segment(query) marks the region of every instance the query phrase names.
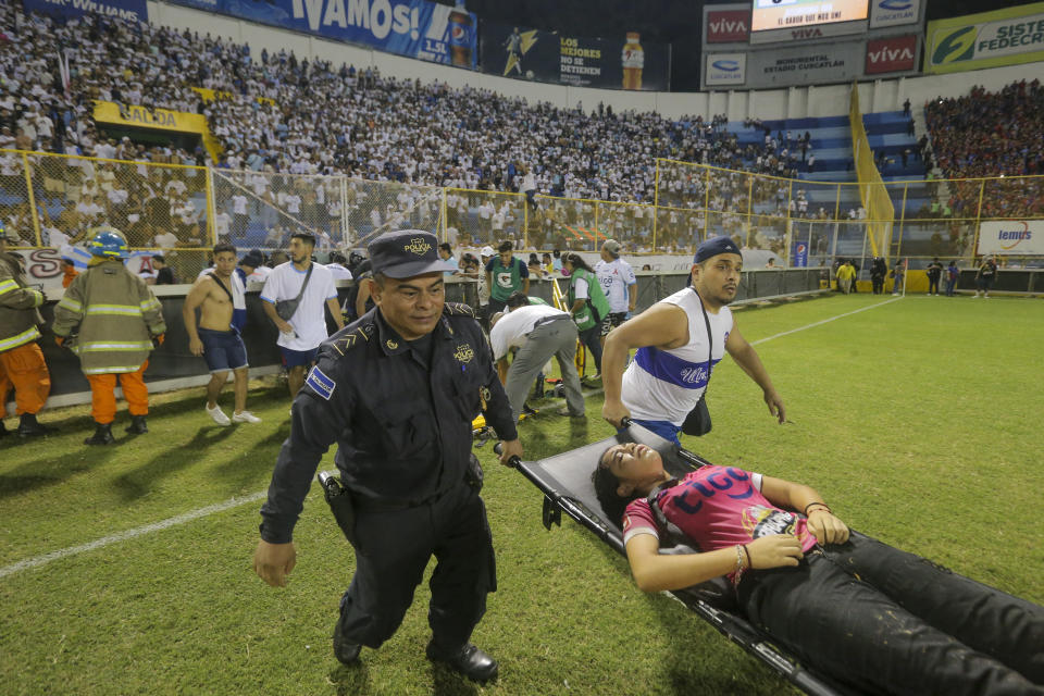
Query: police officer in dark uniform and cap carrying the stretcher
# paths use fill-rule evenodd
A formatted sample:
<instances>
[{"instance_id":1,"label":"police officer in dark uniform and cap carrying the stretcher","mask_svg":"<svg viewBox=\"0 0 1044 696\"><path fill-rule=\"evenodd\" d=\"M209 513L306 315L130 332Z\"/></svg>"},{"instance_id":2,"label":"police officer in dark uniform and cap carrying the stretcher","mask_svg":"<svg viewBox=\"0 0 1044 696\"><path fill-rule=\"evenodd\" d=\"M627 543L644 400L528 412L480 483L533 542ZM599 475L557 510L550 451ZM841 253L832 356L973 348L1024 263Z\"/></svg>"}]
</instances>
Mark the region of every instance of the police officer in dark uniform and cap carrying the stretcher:
<instances>
[{"instance_id":1,"label":"police officer in dark uniform and cap carrying the stretcher","mask_svg":"<svg viewBox=\"0 0 1044 696\"><path fill-rule=\"evenodd\" d=\"M356 663L361 646L377 648L395 633L434 554L427 657L486 681L497 663L469 639L496 589L496 569L472 467L472 420L485 411L505 440L502 462L522 447L473 310L445 301L437 247L415 229L371 243L376 307L322 344L294 400L253 566L270 585L286 584L294 525L336 440L355 512L356 574L340 601L334 655Z\"/></svg>"}]
</instances>

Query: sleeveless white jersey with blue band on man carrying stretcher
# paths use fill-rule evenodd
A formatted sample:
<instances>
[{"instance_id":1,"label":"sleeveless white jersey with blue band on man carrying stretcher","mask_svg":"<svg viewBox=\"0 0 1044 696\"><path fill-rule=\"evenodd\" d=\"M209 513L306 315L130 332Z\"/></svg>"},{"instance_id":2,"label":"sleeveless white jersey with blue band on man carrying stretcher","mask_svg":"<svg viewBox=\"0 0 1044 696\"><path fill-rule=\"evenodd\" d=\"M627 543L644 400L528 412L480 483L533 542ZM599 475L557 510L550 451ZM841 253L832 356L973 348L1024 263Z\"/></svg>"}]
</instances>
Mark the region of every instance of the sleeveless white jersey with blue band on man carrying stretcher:
<instances>
[{"instance_id":1,"label":"sleeveless white jersey with blue band on man carrying stretcher","mask_svg":"<svg viewBox=\"0 0 1044 696\"><path fill-rule=\"evenodd\" d=\"M643 421L670 421L681 425L707 389L707 326L699 297L685 288L660 302L674 304L688 318L688 343L681 348L660 350L638 348L623 373L621 398L631 417ZM732 310L722 307L717 314L707 312L713 336L711 369L725 355L725 340L732 331Z\"/></svg>"}]
</instances>

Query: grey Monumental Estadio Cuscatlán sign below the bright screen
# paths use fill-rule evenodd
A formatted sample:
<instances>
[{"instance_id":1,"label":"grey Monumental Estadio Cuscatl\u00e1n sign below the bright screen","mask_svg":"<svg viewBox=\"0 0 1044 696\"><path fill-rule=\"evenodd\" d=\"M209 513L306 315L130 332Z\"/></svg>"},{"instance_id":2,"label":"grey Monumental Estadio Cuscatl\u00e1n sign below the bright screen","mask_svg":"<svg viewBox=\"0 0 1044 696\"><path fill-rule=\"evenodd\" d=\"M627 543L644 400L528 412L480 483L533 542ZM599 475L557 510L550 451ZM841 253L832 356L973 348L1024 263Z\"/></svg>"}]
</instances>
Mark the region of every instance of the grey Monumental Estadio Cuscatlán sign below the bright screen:
<instances>
[{"instance_id":1,"label":"grey Monumental Estadio Cuscatl\u00e1n sign below the bright screen","mask_svg":"<svg viewBox=\"0 0 1044 696\"><path fill-rule=\"evenodd\" d=\"M850 82L862 73L862 41L748 51L746 86L762 89Z\"/></svg>"}]
</instances>

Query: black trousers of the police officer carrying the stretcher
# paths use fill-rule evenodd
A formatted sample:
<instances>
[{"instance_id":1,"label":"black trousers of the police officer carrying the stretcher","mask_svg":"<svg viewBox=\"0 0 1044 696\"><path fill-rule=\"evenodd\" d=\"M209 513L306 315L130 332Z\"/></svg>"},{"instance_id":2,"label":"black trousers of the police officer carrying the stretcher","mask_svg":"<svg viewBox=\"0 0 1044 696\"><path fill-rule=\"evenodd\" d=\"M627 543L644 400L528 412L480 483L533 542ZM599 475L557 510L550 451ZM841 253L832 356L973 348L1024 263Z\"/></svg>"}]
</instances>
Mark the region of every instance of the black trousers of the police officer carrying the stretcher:
<instances>
[{"instance_id":1,"label":"black trousers of the police officer carrying the stretcher","mask_svg":"<svg viewBox=\"0 0 1044 696\"><path fill-rule=\"evenodd\" d=\"M338 630L377 648L399 627L434 555L427 622L433 639L460 647L496 589L496 560L486 508L461 482L434 502L399 510L356 509L356 574L340 600Z\"/></svg>"}]
</instances>

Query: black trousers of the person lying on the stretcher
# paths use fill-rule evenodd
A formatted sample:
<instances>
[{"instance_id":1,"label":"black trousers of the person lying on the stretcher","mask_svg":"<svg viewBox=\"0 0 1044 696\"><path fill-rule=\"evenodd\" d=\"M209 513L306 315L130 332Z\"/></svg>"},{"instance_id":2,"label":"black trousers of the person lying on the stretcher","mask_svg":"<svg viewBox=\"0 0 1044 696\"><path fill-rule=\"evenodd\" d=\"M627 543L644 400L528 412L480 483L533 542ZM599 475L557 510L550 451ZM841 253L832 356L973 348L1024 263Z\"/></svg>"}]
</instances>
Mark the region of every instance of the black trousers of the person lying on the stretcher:
<instances>
[{"instance_id":1,"label":"black trousers of the person lying on the stretcher","mask_svg":"<svg viewBox=\"0 0 1044 696\"><path fill-rule=\"evenodd\" d=\"M828 549L741 583L801 660L868 693L1044 694L1044 608L861 535Z\"/></svg>"}]
</instances>

